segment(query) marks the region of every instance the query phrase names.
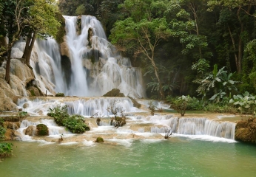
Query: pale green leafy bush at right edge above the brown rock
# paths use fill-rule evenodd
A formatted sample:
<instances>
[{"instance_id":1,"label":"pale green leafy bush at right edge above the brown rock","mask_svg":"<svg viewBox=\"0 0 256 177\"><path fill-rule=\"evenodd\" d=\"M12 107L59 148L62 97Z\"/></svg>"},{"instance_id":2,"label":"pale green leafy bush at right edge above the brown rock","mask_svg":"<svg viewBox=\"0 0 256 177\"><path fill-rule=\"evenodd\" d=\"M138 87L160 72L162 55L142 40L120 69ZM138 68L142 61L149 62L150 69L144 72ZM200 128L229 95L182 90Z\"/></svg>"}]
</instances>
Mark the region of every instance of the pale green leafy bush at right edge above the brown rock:
<instances>
[{"instance_id":1,"label":"pale green leafy bush at right edge above the brown rock","mask_svg":"<svg viewBox=\"0 0 256 177\"><path fill-rule=\"evenodd\" d=\"M255 96L246 91L244 94L233 95L229 103L235 105L241 114L255 114L256 100Z\"/></svg>"}]
</instances>

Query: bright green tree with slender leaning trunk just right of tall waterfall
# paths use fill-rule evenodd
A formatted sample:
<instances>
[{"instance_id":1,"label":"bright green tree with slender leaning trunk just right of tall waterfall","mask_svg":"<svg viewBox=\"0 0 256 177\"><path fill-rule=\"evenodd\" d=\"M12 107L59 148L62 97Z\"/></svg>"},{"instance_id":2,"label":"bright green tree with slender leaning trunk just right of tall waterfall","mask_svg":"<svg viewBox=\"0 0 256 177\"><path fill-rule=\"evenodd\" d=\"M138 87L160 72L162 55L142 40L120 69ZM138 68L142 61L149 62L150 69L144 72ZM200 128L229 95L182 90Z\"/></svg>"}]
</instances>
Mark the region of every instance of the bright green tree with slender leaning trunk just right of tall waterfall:
<instances>
[{"instance_id":1,"label":"bright green tree with slender leaning trunk just right of tall waterfall","mask_svg":"<svg viewBox=\"0 0 256 177\"><path fill-rule=\"evenodd\" d=\"M127 0L121 5L127 18L115 22L110 35L113 44L122 51L132 50L135 55L143 54L149 60L156 80L159 93L164 98L161 78L155 63L155 50L161 41L166 40L171 32L164 13L166 1L155 0Z\"/></svg>"}]
</instances>

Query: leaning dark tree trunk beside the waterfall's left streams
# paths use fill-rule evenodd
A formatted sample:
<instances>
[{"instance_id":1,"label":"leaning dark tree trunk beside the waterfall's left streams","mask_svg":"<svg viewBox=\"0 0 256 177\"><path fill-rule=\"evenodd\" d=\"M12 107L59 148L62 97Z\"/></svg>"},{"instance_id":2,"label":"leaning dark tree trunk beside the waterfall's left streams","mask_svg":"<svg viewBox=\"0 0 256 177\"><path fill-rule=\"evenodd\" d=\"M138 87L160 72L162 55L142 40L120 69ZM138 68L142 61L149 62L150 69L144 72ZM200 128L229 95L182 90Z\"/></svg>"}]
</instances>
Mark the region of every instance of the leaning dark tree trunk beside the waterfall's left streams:
<instances>
[{"instance_id":1,"label":"leaning dark tree trunk beside the waterfall's left streams","mask_svg":"<svg viewBox=\"0 0 256 177\"><path fill-rule=\"evenodd\" d=\"M33 36L32 36L32 35L33 35ZM27 66L28 66L30 69L33 69L33 68L30 66L30 57L31 57L31 53L32 53L32 49L33 49L33 46L34 46L34 44L35 44L35 41L36 41L36 35L35 35L35 33L30 32L30 33L27 35L26 46L25 46L24 53L23 53L23 56L22 56L22 58L25 58L26 64L27 64Z\"/></svg>"}]
</instances>

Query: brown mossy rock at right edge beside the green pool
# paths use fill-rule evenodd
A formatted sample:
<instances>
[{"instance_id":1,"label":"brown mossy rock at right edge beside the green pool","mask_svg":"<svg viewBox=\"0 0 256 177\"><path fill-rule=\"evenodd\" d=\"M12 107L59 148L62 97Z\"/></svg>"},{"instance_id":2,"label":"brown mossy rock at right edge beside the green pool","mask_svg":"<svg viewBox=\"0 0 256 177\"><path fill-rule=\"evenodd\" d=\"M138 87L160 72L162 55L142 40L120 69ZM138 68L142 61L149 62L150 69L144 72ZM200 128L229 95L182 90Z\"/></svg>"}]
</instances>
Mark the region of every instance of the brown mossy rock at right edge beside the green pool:
<instances>
[{"instance_id":1,"label":"brown mossy rock at right edge beside the green pool","mask_svg":"<svg viewBox=\"0 0 256 177\"><path fill-rule=\"evenodd\" d=\"M250 117L248 120L238 122L235 127L235 139L256 143L256 119Z\"/></svg>"}]
</instances>

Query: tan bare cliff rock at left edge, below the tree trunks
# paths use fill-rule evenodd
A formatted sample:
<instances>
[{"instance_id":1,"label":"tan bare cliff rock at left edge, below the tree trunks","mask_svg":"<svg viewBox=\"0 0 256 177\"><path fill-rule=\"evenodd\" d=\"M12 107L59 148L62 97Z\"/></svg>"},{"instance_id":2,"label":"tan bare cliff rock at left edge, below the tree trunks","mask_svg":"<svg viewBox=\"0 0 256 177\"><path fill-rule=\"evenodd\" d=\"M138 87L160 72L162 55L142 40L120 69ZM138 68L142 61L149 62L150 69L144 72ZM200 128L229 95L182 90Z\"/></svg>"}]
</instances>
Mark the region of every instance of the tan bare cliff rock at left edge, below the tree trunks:
<instances>
[{"instance_id":1,"label":"tan bare cliff rock at left edge, below the tree trunks","mask_svg":"<svg viewBox=\"0 0 256 177\"><path fill-rule=\"evenodd\" d=\"M13 111L16 109L17 105L15 103L18 97L31 95L31 91L27 90L27 87L35 80L35 76L33 71L21 60L12 59L10 64L10 84L8 84L4 80L5 66L6 62L0 67L0 111Z\"/></svg>"}]
</instances>

